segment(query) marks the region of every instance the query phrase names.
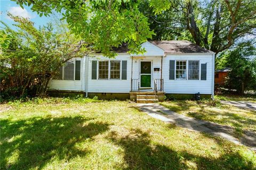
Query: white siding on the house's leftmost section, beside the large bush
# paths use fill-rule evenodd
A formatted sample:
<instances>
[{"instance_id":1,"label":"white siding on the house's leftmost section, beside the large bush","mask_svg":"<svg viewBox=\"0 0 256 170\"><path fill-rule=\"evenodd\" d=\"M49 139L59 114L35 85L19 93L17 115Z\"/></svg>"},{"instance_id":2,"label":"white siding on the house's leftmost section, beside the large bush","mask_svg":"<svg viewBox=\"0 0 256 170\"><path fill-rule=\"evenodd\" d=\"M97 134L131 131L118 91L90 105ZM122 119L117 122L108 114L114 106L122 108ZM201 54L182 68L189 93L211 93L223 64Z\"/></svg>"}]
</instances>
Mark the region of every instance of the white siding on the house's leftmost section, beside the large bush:
<instances>
[{"instance_id":1,"label":"white siding on the house's leftmost section, beside the large bush","mask_svg":"<svg viewBox=\"0 0 256 170\"><path fill-rule=\"evenodd\" d=\"M80 80L55 80L52 79L49 84L49 90L60 91L83 91L82 79L84 75L84 60L81 58L74 58L73 60L81 60Z\"/></svg>"}]
</instances>

